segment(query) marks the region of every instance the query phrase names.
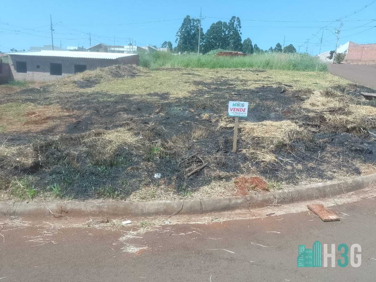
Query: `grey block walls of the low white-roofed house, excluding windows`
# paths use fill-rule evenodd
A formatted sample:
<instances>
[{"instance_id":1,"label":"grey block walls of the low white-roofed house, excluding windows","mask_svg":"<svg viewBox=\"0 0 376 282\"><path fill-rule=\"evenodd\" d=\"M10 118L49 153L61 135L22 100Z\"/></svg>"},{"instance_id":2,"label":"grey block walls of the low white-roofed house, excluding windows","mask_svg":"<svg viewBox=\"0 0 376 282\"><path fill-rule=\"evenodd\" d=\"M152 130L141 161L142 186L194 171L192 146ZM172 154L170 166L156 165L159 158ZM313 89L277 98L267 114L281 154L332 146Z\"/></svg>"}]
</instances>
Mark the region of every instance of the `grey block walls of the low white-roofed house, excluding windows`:
<instances>
[{"instance_id":1,"label":"grey block walls of the low white-roofed house, excluding windows","mask_svg":"<svg viewBox=\"0 0 376 282\"><path fill-rule=\"evenodd\" d=\"M119 59L91 59L91 58L62 58L46 56L11 55L10 68L15 80L46 81L58 79L62 76L74 74L74 65L86 65L87 70L98 67L108 67L116 64L138 64L138 55L127 56ZM26 73L17 73L16 62L26 62ZM50 63L62 65L62 75L50 75ZM37 68L39 66L39 68Z\"/></svg>"}]
</instances>

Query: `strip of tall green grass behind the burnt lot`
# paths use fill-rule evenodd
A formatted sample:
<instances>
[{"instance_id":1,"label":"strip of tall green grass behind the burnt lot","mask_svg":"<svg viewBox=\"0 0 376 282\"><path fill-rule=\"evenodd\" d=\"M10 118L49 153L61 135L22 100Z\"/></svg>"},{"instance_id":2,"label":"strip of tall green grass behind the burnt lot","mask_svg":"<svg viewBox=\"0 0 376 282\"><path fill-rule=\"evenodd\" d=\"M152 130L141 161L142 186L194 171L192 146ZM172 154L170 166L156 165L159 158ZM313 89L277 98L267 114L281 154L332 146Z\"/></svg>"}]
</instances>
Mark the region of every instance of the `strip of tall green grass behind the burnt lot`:
<instances>
[{"instance_id":1,"label":"strip of tall green grass behind the burnt lot","mask_svg":"<svg viewBox=\"0 0 376 282\"><path fill-rule=\"evenodd\" d=\"M139 63L148 68L258 68L263 70L326 71L327 65L307 54L263 53L245 57L214 57L213 55L167 52L139 54Z\"/></svg>"}]
</instances>

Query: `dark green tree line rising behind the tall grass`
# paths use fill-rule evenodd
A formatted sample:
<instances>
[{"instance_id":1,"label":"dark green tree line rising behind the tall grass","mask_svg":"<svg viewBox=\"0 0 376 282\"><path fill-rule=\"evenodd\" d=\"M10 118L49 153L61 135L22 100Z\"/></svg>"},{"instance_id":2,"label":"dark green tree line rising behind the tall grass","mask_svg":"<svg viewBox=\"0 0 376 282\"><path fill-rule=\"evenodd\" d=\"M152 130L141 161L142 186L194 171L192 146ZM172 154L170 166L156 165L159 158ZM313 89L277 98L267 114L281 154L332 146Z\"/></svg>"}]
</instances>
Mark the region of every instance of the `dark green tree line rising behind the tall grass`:
<instances>
[{"instance_id":1,"label":"dark green tree line rising behind the tall grass","mask_svg":"<svg viewBox=\"0 0 376 282\"><path fill-rule=\"evenodd\" d=\"M192 52L197 53L199 48L200 33L200 53L208 53L212 50L230 50L248 54L264 53L264 52L284 52L296 53L293 44L287 45L282 49L282 45L278 42L276 46L270 47L268 50L262 50L257 44L252 44L252 40L248 37L242 42L241 39L241 21L239 17L231 17L226 21L217 21L212 23L206 33L200 29L200 20L191 18L187 15L179 30L176 32L177 45L173 48L171 41L164 41L162 48L168 48L171 52Z\"/></svg>"}]
</instances>

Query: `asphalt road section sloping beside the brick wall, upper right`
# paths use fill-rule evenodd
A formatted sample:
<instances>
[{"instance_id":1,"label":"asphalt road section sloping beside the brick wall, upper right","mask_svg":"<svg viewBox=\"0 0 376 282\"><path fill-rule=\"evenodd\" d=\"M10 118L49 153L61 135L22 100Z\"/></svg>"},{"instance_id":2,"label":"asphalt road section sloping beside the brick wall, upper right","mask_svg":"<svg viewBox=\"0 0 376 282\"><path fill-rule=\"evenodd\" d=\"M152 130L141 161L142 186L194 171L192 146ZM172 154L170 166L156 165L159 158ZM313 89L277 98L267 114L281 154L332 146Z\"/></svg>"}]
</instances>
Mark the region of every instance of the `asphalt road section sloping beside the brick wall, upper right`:
<instances>
[{"instance_id":1,"label":"asphalt road section sloping beside the brick wall, upper right","mask_svg":"<svg viewBox=\"0 0 376 282\"><path fill-rule=\"evenodd\" d=\"M329 71L361 85L376 88L376 65L330 64Z\"/></svg>"}]
</instances>

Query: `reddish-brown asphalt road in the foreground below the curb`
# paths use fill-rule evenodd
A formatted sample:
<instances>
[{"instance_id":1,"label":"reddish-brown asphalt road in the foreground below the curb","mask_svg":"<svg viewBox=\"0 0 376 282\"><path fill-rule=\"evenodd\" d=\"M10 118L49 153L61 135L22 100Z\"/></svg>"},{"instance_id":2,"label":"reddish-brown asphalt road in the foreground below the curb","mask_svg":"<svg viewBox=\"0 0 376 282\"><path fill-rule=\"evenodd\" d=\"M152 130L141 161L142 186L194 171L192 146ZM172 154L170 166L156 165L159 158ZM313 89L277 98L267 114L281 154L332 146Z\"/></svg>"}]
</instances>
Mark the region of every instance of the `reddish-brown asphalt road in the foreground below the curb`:
<instances>
[{"instance_id":1,"label":"reddish-brown asphalt road in the foreground below the curb","mask_svg":"<svg viewBox=\"0 0 376 282\"><path fill-rule=\"evenodd\" d=\"M0 236L0 281L374 282L376 199L332 209L344 213L339 214L341 221L325 223L305 211L213 224L164 225L127 241L149 247L138 253L122 252L126 245L119 241L121 231L51 226L52 232L35 226L49 226L38 219L30 226L8 224L0 233L5 241ZM35 240L40 235L42 241ZM336 246L360 244L361 266L297 268L298 245L309 247L315 240Z\"/></svg>"}]
</instances>

